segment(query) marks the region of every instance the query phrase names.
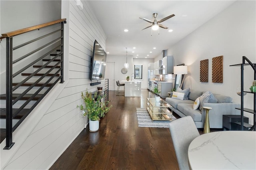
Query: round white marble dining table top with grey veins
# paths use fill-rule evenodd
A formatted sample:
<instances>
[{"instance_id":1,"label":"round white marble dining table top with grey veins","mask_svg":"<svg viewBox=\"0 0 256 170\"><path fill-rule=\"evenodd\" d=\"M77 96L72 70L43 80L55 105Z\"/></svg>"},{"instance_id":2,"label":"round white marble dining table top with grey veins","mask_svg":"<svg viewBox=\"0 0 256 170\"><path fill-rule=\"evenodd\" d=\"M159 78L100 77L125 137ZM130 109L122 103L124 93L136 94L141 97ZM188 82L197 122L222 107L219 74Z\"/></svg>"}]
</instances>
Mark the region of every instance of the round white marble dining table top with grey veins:
<instances>
[{"instance_id":1,"label":"round white marble dining table top with grey veins","mask_svg":"<svg viewBox=\"0 0 256 170\"><path fill-rule=\"evenodd\" d=\"M192 170L256 170L256 132L202 134L190 143L188 161Z\"/></svg>"}]
</instances>

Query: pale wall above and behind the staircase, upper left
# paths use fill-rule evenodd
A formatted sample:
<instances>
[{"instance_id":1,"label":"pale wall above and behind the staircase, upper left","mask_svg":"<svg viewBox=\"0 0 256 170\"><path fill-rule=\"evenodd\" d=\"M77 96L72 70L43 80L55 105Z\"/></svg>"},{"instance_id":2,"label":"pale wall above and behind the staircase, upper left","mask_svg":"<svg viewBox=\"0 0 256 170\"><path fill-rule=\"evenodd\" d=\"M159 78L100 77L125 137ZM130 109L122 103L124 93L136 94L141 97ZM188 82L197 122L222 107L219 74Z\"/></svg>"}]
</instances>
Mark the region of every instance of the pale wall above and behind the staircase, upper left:
<instances>
[{"instance_id":1,"label":"pale wall above and behind the staircase, upper left","mask_svg":"<svg viewBox=\"0 0 256 170\"><path fill-rule=\"evenodd\" d=\"M28 28L31 26L43 24L46 22L58 20L61 18L61 0L49 1L49 0L37 0L37 1L24 1L24 0L1 0L0 9L0 22L1 22L1 34L19 30L22 28ZM33 8L31 8L33 7ZM45 9L45 10L40 10ZM33 32L28 32L26 34L20 34L13 38L13 47L20 45L23 42L32 40L33 38L38 38L39 36L45 35L46 32L53 32L56 30L58 24L50 26L47 28L41 28L40 30L35 30ZM55 34L54 39L57 38ZM45 41L50 42L53 37L49 36L37 42L30 43L20 49L13 51L13 60L21 57L29 52L31 49L36 49L41 46ZM17 44L19 42L19 44ZM36 52L33 55L42 55L44 51ZM26 63L31 62L31 58L35 56L30 55L23 59L22 61L15 63L13 65L13 73L20 70ZM36 58L36 57L35 57ZM34 70L32 68L32 70ZM28 71L28 70L26 70ZM5 94L5 79L6 79L6 39L2 39L0 43L0 81L1 89L0 94ZM22 79L20 75L14 78L14 82L18 82ZM15 93L15 92L14 92Z\"/></svg>"}]
</instances>

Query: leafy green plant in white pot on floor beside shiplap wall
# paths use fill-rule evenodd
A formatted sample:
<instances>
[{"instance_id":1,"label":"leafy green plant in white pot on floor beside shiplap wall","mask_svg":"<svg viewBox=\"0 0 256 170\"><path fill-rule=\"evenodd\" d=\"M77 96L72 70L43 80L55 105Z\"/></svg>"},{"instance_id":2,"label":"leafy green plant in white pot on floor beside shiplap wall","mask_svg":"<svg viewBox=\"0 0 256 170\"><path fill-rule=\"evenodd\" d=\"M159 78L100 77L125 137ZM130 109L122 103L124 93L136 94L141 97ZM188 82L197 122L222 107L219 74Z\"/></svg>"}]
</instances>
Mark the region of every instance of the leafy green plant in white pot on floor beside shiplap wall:
<instances>
[{"instance_id":1,"label":"leafy green plant in white pot on floor beside shiplap wall","mask_svg":"<svg viewBox=\"0 0 256 170\"><path fill-rule=\"evenodd\" d=\"M86 91L86 94L84 95L82 92L81 96L86 107L83 105L77 107L84 111L83 116L88 115L90 132L96 132L100 127L100 118L104 117L105 114L108 113L112 105L108 107L109 101L102 103L102 97L97 95L97 93L93 95L92 92Z\"/></svg>"}]
</instances>

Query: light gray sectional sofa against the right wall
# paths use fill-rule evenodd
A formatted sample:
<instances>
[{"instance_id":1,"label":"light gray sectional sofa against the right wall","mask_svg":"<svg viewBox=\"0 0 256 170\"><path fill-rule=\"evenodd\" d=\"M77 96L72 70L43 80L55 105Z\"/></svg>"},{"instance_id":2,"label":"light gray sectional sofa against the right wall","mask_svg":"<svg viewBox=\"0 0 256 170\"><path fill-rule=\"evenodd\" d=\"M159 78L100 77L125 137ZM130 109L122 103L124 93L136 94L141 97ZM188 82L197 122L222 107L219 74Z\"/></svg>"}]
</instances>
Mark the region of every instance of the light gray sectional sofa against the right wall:
<instances>
[{"instance_id":1,"label":"light gray sectional sofa against the right wall","mask_svg":"<svg viewBox=\"0 0 256 170\"><path fill-rule=\"evenodd\" d=\"M166 102L172 105L170 109L180 117L191 116L197 128L204 127L206 110L193 110L194 101L203 94L202 91L190 89L188 100L166 98ZM210 128L222 128L222 115L240 115L240 111L235 109L241 107L240 104L232 103L232 98L221 94L214 94L217 103L203 103L202 106L212 107L209 111Z\"/></svg>"}]
</instances>

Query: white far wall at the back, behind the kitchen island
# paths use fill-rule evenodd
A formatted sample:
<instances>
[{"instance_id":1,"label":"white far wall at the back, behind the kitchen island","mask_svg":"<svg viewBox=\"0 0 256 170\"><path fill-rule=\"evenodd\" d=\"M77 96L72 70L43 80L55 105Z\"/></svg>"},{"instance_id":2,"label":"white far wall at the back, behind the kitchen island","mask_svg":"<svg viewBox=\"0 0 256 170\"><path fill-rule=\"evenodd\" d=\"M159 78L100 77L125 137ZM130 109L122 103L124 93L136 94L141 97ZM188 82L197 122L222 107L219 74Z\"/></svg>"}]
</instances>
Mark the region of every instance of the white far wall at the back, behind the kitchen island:
<instances>
[{"instance_id":1,"label":"white far wall at the back, behind the kitchen island","mask_svg":"<svg viewBox=\"0 0 256 170\"><path fill-rule=\"evenodd\" d=\"M125 52L125 49L124 49ZM127 76L130 76L131 80L131 75L134 76L132 73L134 73L134 65L135 64L142 64L142 69L143 69L143 75L142 75L142 84L141 88L142 89L147 89L148 87L148 63L154 62L154 59L142 59L142 58L133 58L132 55L127 55L127 62L129 63L129 68L126 74L121 73L121 69L124 68L124 63L126 62L126 55L120 56L120 55L107 55L107 61L115 61L116 62L116 80L126 80ZM110 76L114 75L106 75L106 78L110 78ZM117 89L117 86L115 86L115 90Z\"/></svg>"}]
</instances>

